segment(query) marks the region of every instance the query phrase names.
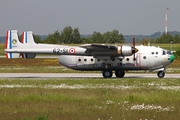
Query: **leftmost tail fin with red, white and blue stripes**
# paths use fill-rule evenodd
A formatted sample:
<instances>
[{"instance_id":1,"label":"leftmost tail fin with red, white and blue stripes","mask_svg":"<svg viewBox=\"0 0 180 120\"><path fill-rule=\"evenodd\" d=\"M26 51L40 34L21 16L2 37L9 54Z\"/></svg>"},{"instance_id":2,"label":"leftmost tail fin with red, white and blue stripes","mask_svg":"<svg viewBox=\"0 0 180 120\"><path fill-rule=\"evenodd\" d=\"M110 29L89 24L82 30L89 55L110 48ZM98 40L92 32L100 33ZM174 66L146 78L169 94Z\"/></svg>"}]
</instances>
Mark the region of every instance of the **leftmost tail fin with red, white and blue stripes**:
<instances>
[{"instance_id":1,"label":"leftmost tail fin with red, white and blue stripes","mask_svg":"<svg viewBox=\"0 0 180 120\"><path fill-rule=\"evenodd\" d=\"M22 45L19 41L17 30L9 30L6 32L6 49L17 49ZM6 58L19 58L19 53L6 53Z\"/></svg>"}]
</instances>

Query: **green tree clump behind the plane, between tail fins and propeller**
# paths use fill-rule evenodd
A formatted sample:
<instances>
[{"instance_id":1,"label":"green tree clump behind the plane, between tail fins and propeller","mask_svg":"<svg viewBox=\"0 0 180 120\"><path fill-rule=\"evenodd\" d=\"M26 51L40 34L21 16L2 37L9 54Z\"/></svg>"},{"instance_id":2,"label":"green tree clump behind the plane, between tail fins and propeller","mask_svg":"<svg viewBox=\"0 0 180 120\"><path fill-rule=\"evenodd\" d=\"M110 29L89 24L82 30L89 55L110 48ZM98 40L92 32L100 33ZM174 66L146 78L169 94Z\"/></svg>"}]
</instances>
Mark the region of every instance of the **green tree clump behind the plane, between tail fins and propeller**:
<instances>
[{"instance_id":1,"label":"green tree clump behind the plane, between tail fins and propeller","mask_svg":"<svg viewBox=\"0 0 180 120\"><path fill-rule=\"evenodd\" d=\"M48 44L85 44L85 43L124 43L124 36L118 30L108 31L104 34L100 32L93 32L92 35L81 37L78 28L70 26L65 27L61 32L56 30L54 33L49 34L44 40L40 36L34 35L36 43ZM21 38L21 37L20 37Z\"/></svg>"}]
</instances>

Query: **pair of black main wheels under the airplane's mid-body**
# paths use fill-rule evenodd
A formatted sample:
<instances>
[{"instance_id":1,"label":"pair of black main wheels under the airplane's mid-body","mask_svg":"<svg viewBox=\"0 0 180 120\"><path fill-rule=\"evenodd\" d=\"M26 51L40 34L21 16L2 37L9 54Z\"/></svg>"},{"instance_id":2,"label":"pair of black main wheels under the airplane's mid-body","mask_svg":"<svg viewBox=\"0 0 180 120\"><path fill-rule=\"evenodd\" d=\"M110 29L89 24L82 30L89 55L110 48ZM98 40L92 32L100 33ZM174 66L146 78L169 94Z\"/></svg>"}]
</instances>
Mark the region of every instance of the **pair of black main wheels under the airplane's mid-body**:
<instances>
[{"instance_id":1,"label":"pair of black main wheels under the airplane's mid-body","mask_svg":"<svg viewBox=\"0 0 180 120\"><path fill-rule=\"evenodd\" d=\"M104 71L102 71L102 75L104 78L111 78L113 75L113 72L112 72L112 70L104 70ZM118 78L122 78L122 77L124 77L125 72L124 72L124 70L116 70L115 75Z\"/></svg>"}]
</instances>

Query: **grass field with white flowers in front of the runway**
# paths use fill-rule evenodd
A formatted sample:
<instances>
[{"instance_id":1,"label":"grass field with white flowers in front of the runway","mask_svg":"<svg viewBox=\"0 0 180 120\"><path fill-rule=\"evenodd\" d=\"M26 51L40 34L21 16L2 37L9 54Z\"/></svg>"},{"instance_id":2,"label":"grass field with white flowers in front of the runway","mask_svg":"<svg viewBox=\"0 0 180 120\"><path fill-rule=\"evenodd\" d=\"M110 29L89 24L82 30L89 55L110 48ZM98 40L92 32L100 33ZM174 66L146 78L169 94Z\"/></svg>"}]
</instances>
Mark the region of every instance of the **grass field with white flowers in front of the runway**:
<instances>
[{"instance_id":1,"label":"grass field with white flowers in front of the runway","mask_svg":"<svg viewBox=\"0 0 180 120\"><path fill-rule=\"evenodd\" d=\"M0 89L0 119L180 117L180 79L2 79Z\"/></svg>"}]
</instances>

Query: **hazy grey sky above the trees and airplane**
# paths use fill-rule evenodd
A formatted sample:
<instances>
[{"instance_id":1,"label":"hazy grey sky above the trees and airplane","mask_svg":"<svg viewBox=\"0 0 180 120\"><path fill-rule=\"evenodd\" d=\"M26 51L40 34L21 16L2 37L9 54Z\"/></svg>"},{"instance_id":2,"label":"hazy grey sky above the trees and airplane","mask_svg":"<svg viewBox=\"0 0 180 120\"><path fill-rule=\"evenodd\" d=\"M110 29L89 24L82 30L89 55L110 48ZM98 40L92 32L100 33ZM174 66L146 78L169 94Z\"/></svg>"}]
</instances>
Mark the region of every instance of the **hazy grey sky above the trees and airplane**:
<instances>
[{"instance_id":1,"label":"hazy grey sky above the trees and airplane","mask_svg":"<svg viewBox=\"0 0 180 120\"><path fill-rule=\"evenodd\" d=\"M180 32L180 0L1 0L0 36L6 30L48 35L65 27L81 34L118 30L123 35Z\"/></svg>"}]
</instances>

